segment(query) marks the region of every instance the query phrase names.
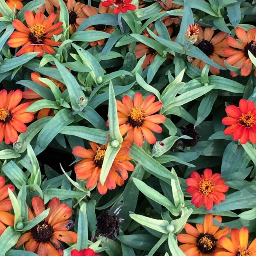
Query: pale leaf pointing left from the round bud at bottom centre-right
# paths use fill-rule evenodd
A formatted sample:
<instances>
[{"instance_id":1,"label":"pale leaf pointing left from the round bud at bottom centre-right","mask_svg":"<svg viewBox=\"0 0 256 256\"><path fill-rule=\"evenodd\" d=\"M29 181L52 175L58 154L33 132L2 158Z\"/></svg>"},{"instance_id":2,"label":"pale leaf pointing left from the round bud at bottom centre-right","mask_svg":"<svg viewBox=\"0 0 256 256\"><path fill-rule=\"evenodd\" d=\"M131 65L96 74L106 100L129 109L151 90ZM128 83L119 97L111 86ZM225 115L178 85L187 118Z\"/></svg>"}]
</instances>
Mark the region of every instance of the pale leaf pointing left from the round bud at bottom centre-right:
<instances>
[{"instance_id":1,"label":"pale leaf pointing left from the round bud at bottom centre-right","mask_svg":"<svg viewBox=\"0 0 256 256\"><path fill-rule=\"evenodd\" d=\"M168 234L167 226L169 222L167 220L155 220L153 218L148 218L139 214L130 214L132 220L135 220L139 224L154 229L158 232Z\"/></svg>"}]
</instances>

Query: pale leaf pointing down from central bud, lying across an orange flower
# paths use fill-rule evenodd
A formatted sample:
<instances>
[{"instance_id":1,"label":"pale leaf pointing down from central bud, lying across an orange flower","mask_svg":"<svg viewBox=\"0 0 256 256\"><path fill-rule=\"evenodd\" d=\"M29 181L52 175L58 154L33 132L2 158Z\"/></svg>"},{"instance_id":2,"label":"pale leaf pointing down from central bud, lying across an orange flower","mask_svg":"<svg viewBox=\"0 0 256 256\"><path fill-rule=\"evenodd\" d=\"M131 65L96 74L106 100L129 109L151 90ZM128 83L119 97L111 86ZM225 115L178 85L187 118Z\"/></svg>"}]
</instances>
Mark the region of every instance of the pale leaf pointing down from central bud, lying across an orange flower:
<instances>
[{"instance_id":1,"label":"pale leaf pointing down from central bud, lying across an orange flower","mask_svg":"<svg viewBox=\"0 0 256 256\"><path fill-rule=\"evenodd\" d=\"M104 185L106 178L108 177L110 168L112 167L112 164L120 148L121 148L121 144L119 144L117 147L111 146L110 143L108 144L108 147L105 152L103 164L101 167L100 182L102 185Z\"/></svg>"}]
</instances>

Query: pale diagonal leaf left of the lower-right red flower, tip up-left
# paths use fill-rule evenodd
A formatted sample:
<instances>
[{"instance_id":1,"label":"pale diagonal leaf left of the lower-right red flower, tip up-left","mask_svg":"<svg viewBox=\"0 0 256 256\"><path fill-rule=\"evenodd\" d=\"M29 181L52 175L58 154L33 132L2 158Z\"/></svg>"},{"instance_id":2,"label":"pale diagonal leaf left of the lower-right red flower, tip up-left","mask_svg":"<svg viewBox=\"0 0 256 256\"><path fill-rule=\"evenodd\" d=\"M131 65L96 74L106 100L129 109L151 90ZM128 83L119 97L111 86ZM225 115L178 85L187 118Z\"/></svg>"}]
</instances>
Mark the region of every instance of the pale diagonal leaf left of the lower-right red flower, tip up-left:
<instances>
[{"instance_id":1,"label":"pale diagonal leaf left of the lower-right red flower, tip up-left","mask_svg":"<svg viewBox=\"0 0 256 256\"><path fill-rule=\"evenodd\" d=\"M146 197L152 199L153 201L162 204L168 211L170 211L174 216L178 216L179 212L177 211L175 205L168 200L164 195L156 191L155 189L152 189L150 186L142 182L141 180L138 180L136 178L132 178L133 182Z\"/></svg>"}]
</instances>

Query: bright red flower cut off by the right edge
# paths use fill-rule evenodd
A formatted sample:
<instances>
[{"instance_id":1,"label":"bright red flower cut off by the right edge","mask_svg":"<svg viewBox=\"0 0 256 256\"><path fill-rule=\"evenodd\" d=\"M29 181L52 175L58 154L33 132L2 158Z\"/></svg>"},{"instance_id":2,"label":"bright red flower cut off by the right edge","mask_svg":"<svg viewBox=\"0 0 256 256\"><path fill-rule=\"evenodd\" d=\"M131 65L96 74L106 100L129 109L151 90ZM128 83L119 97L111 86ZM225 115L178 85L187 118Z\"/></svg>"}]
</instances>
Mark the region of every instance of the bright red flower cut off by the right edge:
<instances>
[{"instance_id":1,"label":"bright red flower cut off by the right edge","mask_svg":"<svg viewBox=\"0 0 256 256\"><path fill-rule=\"evenodd\" d=\"M234 105L226 107L229 117L222 119L222 124L230 125L224 130L225 135L233 134L233 139L240 139L241 144L251 141L256 143L256 108L253 101L240 99L239 108Z\"/></svg>"}]
</instances>

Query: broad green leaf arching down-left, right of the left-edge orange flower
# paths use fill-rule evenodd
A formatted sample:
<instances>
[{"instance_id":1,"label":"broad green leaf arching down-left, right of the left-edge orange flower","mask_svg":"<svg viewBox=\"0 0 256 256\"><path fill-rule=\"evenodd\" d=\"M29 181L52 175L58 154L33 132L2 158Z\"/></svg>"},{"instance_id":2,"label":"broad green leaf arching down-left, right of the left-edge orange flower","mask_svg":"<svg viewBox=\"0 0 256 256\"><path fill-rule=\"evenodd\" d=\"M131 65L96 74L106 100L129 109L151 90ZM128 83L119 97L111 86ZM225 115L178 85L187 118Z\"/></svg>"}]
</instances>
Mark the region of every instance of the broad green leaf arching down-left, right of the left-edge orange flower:
<instances>
[{"instance_id":1,"label":"broad green leaf arching down-left, right of the left-edge orange flower","mask_svg":"<svg viewBox=\"0 0 256 256\"><path fill-rule=\"evenodd\" d=\"M39 132L36 140L36 148L34 149L35 154L38 155L49 145L54 137L63 129L65 126L74 122L74 116L68 109L62 109L43 127Z\"/></svg>"}]
</instances>

